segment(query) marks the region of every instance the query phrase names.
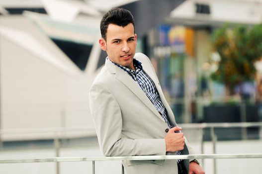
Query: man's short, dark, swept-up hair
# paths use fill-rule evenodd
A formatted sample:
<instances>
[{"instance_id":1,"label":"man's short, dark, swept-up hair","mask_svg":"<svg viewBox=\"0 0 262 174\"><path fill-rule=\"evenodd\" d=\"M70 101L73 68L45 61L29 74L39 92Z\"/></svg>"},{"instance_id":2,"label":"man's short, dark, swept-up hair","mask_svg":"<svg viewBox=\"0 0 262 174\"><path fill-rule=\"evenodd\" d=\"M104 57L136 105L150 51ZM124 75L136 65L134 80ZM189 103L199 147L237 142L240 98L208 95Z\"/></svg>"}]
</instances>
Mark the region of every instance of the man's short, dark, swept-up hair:
<instances>
[{"instance_id":1,"label":"man's short, dark, swept-up hair","mask_svg":"<svg viewBox=\"0 0 262 174\"><path fill-rule=\"evenodd\" d=\"M124 8L112 8L107 11L100 22L101 36L106 40L106 31L109 24L115 24L118 26L126 26L132 23L134 28L134 18L130 11Z\"/></svg>"}]
</instances>

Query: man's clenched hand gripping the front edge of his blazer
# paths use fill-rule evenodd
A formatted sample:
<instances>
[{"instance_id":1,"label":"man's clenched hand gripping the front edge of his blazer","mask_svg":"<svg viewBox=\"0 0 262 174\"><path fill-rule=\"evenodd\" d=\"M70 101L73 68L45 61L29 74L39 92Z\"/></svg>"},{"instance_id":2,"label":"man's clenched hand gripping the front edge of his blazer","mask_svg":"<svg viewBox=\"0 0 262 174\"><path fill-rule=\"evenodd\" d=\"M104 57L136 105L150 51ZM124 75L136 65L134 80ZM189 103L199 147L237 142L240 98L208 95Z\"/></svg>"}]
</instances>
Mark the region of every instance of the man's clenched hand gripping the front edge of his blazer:
<instances>
[{"instance_id":1,"label":"man's clenched hand gripping the front edge of his blazer","mask_svg":"<svg viewBox=\"0 0 262 174\"><path fill-rule=\"evenodd\" d=\"M184 135L176 131L180 131L182 128L173 127L169 130L168 134L165 137L166 141L166 152L175 152L184 149Z\"/></svg>"}]
</instances>

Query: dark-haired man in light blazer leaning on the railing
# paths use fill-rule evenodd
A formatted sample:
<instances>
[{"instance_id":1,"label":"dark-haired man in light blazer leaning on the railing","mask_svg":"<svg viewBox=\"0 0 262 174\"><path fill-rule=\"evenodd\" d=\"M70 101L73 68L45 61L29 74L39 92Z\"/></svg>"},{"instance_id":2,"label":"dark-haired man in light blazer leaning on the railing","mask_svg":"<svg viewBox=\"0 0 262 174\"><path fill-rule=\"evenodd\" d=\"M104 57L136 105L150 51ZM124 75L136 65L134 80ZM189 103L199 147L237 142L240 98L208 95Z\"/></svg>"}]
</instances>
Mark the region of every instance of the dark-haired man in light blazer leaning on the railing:
<instances>
[{"instance_id":1,"label":"dark-haired man in light blazer leaning on the railing","mask_svg":"<svg viewBox=\"0 0 262 174\"><path fill-rule=\"evenodd\" d=\"M191 154L150 60L136 53L130 11L104 14L100 47L108 57L90 89L90 109L105 156ZM176 132L176 133L175 133ZM204 174L197 161L123 161L125 174ZM189 165L189 170L188 170Z\"/></svg>"}]
</instances>

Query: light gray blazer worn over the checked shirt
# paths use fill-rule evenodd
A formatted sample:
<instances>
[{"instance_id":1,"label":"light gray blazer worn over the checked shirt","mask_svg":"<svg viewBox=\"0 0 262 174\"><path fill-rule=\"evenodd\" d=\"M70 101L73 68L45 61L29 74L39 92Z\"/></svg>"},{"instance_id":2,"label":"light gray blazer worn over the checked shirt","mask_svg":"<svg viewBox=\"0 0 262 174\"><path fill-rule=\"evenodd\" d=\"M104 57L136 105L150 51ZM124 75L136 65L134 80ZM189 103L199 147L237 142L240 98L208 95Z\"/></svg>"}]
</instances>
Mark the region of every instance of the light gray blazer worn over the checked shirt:
<instances>
[{"instance_id":1,"label":"light gray blazer worn over the checked shirt","mask_svg":"<svg viewBox=\"0 0 262 174\"><path fill-rule=\"evenodd\" d=\"M155 83L169 120L176 125L150 60L142 53L134 58ZM175 155L166 153L167 123L139 85L107 59L90 89L89 103L103 155ZM182 154L188 153L193 150L185 140ZM122 161L122 165L125 174L177 174L176 160Z\"/></svg>"}]
</instances>

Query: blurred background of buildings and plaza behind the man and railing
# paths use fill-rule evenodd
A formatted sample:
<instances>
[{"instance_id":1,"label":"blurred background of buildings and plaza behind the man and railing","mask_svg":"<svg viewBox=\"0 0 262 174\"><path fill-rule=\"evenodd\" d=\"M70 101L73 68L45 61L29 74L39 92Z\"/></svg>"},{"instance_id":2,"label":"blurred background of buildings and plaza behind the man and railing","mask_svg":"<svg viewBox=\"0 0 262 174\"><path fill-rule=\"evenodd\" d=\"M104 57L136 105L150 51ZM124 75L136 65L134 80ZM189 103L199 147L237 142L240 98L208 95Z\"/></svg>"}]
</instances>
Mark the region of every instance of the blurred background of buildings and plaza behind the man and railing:
<instances>
[{"instance_id":1,"label":"blurred background of buildings and plaza behind the man and railing","mask_svg":"<svg viewBox=\"0 0 262 174\"><path fill-rule=\"evenodd\" d=\"M262 0L0 0L0 159L101 156L88 91L104 65L99 24L112 7L134 15L137 52L151 59L197 154L262 153ZM246 174L261 162L202 165ZM2 174L76 171L90 173L91 163L0 164ZM120 171L97 162L98 174Z\"/></svg>"}]
</instances>

